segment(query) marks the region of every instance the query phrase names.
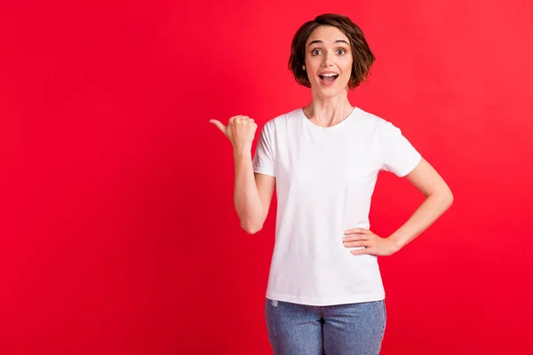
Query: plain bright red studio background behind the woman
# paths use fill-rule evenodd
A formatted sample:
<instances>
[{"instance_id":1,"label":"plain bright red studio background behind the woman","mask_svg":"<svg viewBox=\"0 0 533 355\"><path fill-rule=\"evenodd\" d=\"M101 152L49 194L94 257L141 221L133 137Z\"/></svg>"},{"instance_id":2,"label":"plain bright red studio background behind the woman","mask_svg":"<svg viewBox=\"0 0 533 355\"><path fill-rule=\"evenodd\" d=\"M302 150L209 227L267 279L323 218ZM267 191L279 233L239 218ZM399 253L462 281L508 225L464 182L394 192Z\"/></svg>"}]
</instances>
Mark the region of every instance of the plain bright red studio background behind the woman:
<instances>
[{"instance_id":1,"label":"plain bright red studio background behind the woman","mask_svg":"<svg viewBox=\"0 0 533 355\"><path fill-rule=\"evenodd\" d=\"M275 207L240 229L231 146L208 121L261 128L306 105L290 40L323 12L351 17L377 57L352 103L401 127L455 194L380 258L382 353L527 352L530 2L42 3L0 9L2 354L270 353ZM420 201L382 174L374 232Z\"/></svg>"}]
</instances>

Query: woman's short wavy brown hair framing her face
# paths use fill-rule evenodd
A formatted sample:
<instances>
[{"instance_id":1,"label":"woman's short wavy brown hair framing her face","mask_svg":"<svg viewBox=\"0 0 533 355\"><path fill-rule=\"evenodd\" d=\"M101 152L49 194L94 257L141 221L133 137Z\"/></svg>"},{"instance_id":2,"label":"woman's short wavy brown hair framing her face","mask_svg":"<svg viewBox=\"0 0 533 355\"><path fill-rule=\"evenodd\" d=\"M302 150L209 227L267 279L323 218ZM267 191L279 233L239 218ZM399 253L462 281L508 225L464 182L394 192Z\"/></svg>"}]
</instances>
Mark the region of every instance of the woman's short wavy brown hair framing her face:
<instances>
[{"instance_id":1,"label":"woman's short wavy brown hair framing her face","mask_svg":"<svg viewBox=\"0 0 533 355\"><path fill-rule=\"evenodd\" d=\"M312 21L304 23L292 38L290 47L289 69L292 71L296 82L308 88L311 87L307 73L303 69L306 64L306 42L315 28L319 26L333 26L338 28L350 40L350 47L354 57L352 75L348 82L350 89L355 89L360 83L366 82L370 75L370 67L376 60L369 44L364 39L361 28L346 16L324 13Z\"/></svg>"}]
</instances>

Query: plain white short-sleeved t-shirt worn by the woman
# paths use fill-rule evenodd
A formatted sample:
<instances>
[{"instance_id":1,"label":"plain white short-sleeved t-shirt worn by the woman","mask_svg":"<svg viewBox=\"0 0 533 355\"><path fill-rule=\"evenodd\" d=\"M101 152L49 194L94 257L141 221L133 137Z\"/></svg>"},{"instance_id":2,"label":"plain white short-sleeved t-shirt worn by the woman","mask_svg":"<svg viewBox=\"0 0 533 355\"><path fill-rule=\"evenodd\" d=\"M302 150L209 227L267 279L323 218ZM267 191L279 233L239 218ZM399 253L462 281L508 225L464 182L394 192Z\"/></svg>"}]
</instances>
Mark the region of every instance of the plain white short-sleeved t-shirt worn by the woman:
<instances>
[{"instance_id":1,"label":"plain white short-sleeved t-shirt worn by the woman","mask_svg":"<svg viewBox=\"0 0 533 355\"><path fill-rule=\"evenodd\" d=\"M276 178L267 298L309 305L384 299L377 256L354 256L342 238L347 229L370 229L379 170L403 177L420 158L401 130L358 107L332 127L310 122L301 108L268 121L253 157L254 172Z\"/></svg>"}]
</instances>

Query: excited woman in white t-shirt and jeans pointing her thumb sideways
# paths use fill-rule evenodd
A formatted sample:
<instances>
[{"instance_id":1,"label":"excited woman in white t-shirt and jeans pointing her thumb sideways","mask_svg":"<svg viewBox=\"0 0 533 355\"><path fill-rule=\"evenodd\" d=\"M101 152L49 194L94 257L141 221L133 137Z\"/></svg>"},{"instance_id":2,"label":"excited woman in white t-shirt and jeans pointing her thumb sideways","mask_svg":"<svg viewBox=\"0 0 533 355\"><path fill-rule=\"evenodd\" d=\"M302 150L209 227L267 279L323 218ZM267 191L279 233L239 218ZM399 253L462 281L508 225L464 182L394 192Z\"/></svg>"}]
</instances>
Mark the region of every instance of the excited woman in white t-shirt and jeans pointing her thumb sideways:
<instances>
[{"instance_id":1,"label":"excited woman in white t-shirt and jeans pointing her thumb sideways","mask_svg":"<svg viewBox=\"0 0 533 355\"><path fill-rule=\"evenodd\" d=\"M318 16L298 29L289 61L313 99L265 124L253 160L253 119L235 116L227 127L211 120L234 146L235 209L248 233L261 230L276 186L266 300L275 354L378 354L386 308L377 256L398 252L453 200L401 130L348 101L373 61L354 22ZM379 170L407 177L426 195L388 238L370 231Z\"/></svg>"}]
</instances>

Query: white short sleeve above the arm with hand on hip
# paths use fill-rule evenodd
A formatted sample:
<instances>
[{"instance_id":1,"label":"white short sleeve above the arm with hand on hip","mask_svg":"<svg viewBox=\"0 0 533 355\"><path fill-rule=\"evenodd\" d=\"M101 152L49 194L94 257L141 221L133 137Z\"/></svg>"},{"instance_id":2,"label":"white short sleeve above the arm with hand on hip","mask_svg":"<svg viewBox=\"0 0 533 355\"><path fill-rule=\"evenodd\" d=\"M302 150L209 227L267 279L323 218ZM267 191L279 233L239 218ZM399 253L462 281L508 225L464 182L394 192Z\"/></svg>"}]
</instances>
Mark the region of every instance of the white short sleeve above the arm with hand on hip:
<instances>
[{"instance_id":1,"label":"white short sleeve above the arm with hand on hip","mask_svg":"<svg viewBox=\"0 0 533 355\"><path fill-rule=\"evenodd\" d=\"M383 159L382 170L404 177L415 169L422 155L407 138L403 137L402 130L391 122L385 122L380 128L379 136Z\"/></svg>"}]
</instances>

